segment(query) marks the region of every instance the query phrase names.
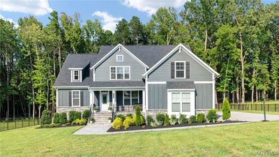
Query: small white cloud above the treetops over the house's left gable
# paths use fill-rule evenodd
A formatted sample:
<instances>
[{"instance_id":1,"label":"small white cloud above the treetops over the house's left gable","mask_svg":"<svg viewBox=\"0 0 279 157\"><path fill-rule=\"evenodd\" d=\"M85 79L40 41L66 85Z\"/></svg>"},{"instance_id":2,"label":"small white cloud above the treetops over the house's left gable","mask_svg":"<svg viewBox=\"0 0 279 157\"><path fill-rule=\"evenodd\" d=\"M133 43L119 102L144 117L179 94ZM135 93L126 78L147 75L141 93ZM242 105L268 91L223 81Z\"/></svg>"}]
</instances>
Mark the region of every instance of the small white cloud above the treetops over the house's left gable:
<instances>
[{"instance_id":1,"label":"small white cloud above the treetops over the house's left gable","mask_svg":"<svg viewBox=\"0 0 279 157\"><path fill-rule=\"evenodd\" d=\"M116 24L122 19L122 17L113 17L107 12L96 11L92 14L101 18L100 22L103 24L103 29L110 30L112 32L116 29Z\"/></svg>"}]
</instances>

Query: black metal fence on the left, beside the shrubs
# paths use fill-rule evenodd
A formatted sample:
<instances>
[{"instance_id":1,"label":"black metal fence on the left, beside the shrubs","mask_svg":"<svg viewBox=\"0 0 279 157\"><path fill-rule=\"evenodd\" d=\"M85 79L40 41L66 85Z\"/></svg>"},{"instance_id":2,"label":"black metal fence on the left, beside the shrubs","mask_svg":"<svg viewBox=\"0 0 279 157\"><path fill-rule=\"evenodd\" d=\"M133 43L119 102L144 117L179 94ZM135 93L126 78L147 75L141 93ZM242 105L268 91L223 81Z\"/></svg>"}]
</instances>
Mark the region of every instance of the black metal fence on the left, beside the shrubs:
<instances>
[{"instance_id":1,"label":"black metal fence on the left, beside the shrubs","mask_svg":"<svg viewBox=\"0 0 279 157\"><path fill-rule=\"evenodd\" d=\"M1 119L0 120L0 131L3 130L10 130L10 129L15 129L15 128L24 128L27 126L36 126L40 124L40 121L38 117L35 119L31 118L9 118L9 119Z\"/></svg>"}]
</instances>

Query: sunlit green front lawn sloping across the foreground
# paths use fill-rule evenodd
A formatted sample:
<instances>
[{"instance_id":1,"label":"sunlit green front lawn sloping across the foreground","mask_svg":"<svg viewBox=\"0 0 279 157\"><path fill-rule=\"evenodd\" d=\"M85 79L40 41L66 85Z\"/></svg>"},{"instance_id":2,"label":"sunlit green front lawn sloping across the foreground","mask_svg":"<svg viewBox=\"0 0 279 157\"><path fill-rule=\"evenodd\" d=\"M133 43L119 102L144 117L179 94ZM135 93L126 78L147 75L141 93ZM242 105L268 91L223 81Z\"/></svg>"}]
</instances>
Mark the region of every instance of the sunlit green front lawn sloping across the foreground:
<instances>
[{"instance_id":1,"label":"sunlit green front lawn sloping across the foreground","mask_svg":"<svg viewBox=\"0 0 279 157\"><path fill-rule=\"evenodd\" d=\"M279 151L279 121L116 135L33 127L0 133L0 156L257 156Z\"/></svg>"}]
</instances>

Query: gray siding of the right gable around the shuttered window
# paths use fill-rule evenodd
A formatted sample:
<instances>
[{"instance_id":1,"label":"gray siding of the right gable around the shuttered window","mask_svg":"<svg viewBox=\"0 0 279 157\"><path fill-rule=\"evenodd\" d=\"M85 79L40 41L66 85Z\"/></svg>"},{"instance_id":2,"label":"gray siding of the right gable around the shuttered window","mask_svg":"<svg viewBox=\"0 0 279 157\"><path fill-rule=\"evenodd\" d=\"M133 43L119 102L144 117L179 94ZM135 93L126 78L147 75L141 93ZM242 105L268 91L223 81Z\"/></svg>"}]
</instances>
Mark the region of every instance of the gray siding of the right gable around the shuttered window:
<instances>
[{"instance_id":1,"label":"gray siding of the right gable around the shuttered window","mask_svg":"<svg viewBox=\"0 0 279 157\"><path fill-rule=\"evenodd\" d=\"M172 79L171 78L171 62L186 61L190 63L190 78L189 79ZM149 82L152 81L211 81L212 74L199 64L195 59L190 57L186 52L181 50L172 54L165 62L149 74Z\"/></svg>"}]
</instances>

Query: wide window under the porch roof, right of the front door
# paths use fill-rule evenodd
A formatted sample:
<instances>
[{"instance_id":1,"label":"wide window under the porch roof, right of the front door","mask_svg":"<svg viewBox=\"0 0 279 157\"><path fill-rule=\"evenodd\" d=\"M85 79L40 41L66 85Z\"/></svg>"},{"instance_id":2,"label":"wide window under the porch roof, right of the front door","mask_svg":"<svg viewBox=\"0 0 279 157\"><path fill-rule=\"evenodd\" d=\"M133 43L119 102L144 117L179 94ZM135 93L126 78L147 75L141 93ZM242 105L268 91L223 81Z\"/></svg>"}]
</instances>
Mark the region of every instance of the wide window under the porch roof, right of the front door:
<instances>
[{"instance_id":1,"label":"wide window under the porch roof, right of the front door","mask_svg":"<svg viewBox=\"0 0 279 157\"><path fill-rule=\"evenodd\" d=\"M123 91L123 104L134 105L135 103L140 103L139 96L139 91Z\"/></svg>"}]
</instances>

